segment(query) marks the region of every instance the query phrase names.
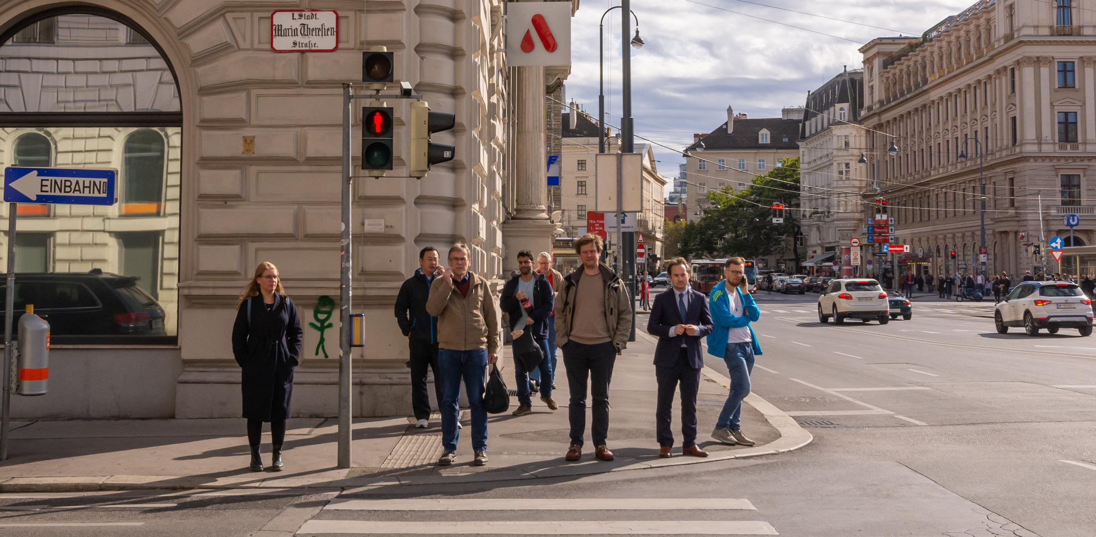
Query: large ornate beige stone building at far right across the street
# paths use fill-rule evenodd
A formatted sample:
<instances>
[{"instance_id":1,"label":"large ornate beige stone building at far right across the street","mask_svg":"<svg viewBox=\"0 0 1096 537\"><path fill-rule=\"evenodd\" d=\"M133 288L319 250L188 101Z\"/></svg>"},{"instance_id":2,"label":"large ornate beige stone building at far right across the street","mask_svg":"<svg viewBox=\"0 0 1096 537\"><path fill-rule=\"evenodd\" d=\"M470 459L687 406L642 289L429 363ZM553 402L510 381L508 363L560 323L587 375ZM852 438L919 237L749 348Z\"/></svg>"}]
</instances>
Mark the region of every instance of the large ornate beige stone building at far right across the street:
<instances>
[{"instance_id":1,"label":"large ornate beige stone building at far right across the street","mask_svg":"<svg viewBox=\"0 0 1096 537\"><path fill-rule=\"evenodd\" d=\"M1041 255L1035 247L1069 235L1065 214L1081 215L1077 245L1096 239L1085 194L1096 151L1094 41L1096 15L1071 2L980 0L921 39L860 48L869 169L881 156L882 195L913 250L907 266L955 274L980 265L983 182L987 272L1041 268L1046 243Z\"/></svg>"}]
</instances>

